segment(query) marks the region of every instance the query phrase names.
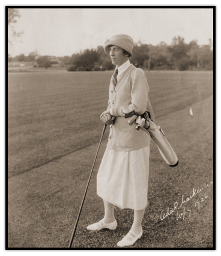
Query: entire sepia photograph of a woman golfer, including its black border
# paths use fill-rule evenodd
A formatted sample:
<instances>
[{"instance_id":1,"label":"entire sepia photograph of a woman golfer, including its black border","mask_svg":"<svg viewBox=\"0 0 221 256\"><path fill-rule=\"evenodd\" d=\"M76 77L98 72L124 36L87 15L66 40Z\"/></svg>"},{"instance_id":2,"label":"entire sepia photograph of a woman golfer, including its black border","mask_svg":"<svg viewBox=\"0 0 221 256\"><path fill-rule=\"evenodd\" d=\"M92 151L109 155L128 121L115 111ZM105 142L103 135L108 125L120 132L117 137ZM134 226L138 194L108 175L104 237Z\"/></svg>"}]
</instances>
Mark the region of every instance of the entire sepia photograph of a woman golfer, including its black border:
<instances>
[{"instance_id":1,"label":"entire sepia photograph of a woman golfer, including its black border","mask_svg":"<svg viewBox=\"0 0 221 256\"><path fill-rule=\"evenodd\" d=\"M216 5L7 16L5 248L216 249Z\"/></svg>"}]
</instances>

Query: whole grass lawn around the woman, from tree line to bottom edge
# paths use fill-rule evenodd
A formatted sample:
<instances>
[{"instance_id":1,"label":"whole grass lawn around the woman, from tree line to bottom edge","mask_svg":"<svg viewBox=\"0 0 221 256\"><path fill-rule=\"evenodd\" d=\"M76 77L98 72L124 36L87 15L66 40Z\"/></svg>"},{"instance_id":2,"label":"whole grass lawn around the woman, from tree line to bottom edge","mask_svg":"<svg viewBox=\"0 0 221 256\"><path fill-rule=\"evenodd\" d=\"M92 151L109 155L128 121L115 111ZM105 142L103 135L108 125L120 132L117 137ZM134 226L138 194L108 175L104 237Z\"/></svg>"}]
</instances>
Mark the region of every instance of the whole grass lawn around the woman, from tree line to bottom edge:
<instances>
[{"instance_id":1,"label":"whole grass lawn around the woman, from tree line to bottom edge","mask_svg":"<svg viewBox=\"0 0 221 256\"><path fill-rule=\"evenodd\" d=\"M111 75L8 73L8 247L67 247L103 129L99 116L107 106ZM161 220L160 213L181 203L182 195L190 196L193 187L213 181L213 73L150 72L147 77L157 123L180 164L166 166L152 142L144 235L133 247L211 248L213 184L183 204L179 211L189 210L185 219L174 212ZM116 209L117 230L85 230L103 216L95 176L107 135L108 130L73 247L117 247L133 221L132 210Z\"/></svg>"}]
</instances>

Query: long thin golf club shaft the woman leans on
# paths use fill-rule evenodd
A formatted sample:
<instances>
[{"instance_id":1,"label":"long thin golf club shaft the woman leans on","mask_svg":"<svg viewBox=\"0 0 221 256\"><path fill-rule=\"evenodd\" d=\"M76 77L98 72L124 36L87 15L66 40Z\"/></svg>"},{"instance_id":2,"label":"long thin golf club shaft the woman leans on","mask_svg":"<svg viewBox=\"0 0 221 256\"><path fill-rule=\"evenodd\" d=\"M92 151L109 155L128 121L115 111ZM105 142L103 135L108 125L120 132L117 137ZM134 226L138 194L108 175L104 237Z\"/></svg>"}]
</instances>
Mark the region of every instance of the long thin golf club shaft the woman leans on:
<instances>
[{"instance_id":1,"label":"long thin golf club shaft the woman leans on","mask_svg":"<svg viewBox=\"0 0 221 256\"><path fill-rule=\"evenodd\" d=\"M96 153L96 155L95 155L94 163L93 163L93 165L92 165L91 172L90 172L90 174L89 174L88 183L86 184L85 194L83 195L83 200L82 200L82 203L81 203L81 205L80 205L80 210L79 210L78 215L77 215L77 219L76 219L76 222L75 222L75 225L74 225L73 232L72 232L72 234L71 234L71 239L70 239L68 248L71 248L71 245L72 245L73 240L74 240L74 234L76 233L77 223L78 223L79 218L80 218L80 213L81 213L81 211L82 211L83 202L85 201L86 192L87 192L88 186L89 186L89 181L91 180L92 171L93 171L93 169L94 169L94 165L95 165L95 162L96 162L96 159L97 159L97 154L98 154L98 151L99 151L99 148L100 148L101 141L102 141L102 139L103 139L104 132L105 132L105 130L106 130L106 126L107 126L107 125L104 124L103 132L102 132L102 135L101 135L101 138L100 138L100 142L99 142L99 145L98 145L98 148L97 148L97 153Z\"/></svg>"}]
</instances>

